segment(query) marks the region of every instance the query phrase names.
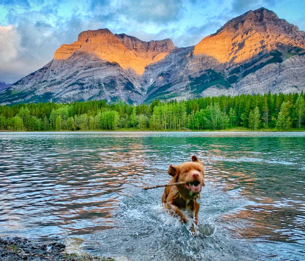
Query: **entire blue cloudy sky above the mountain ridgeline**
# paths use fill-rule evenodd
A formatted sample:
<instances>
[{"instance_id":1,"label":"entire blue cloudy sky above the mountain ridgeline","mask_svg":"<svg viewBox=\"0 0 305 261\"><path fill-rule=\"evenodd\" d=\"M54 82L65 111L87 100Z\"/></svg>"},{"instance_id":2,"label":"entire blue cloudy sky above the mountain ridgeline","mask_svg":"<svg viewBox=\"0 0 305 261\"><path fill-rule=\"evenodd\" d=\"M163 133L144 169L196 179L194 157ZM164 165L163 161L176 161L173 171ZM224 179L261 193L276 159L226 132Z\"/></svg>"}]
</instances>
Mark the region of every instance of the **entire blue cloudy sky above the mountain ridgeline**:
<instances>
[{"instance_id":1,"label":"entire blue cloudy sky above the mountain ridgeline","mask_svg":"<svg viewBox=\"0 0 305 261\"><path fill-rule=\"evenodd\" d=\"M85 30L108 28L142 41L170 38L186 47L260 7L305 31L304 0L0 0L0 82L39 70Z\"/></svg>"}]
</instances>

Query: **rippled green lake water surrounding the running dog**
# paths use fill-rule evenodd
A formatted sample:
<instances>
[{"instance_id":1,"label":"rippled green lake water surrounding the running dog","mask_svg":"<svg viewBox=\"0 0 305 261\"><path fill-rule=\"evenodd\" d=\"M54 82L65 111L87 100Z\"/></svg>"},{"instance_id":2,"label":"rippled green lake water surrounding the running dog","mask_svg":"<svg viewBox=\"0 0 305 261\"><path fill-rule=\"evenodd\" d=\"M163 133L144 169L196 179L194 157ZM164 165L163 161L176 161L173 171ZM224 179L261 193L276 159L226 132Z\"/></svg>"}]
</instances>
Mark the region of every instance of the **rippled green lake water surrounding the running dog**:
<instances>
[{"instance_id":1,"label":"rippled green lake water surrounding the running dog","mask_svg":"<svg viewBox=\"0 0 305 261\"><path fill-rule=\"evenodd\" d=\"M132 260L305 259L305 133L0 133L0 236ZM199 157L199 232L162 208Z\"/></svg>"}]
</instances>

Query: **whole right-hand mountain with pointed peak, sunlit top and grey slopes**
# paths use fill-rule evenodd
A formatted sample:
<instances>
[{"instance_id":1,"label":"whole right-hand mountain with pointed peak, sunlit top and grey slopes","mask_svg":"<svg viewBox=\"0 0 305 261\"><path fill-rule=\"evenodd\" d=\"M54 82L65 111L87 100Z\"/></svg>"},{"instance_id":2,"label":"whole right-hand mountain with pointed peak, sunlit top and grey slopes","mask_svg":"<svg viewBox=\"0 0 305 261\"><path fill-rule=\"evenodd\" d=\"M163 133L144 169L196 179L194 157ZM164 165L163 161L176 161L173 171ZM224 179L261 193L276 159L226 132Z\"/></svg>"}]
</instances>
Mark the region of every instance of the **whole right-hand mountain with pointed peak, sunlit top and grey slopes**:
<instances>
[{"instance_id":1,"label":"whole right-hand mountain with pointed peak, sunlit top and grey slopes","mask_svg":"<svg viewBox=\"0 0 305 261\"><path fill-rule=\"evenodd\" d=\"M170 87L164 81L148 100L301 92L304 56L305 32L267 9L249 11L194 46Z\"/></svg>"}]
</instances>

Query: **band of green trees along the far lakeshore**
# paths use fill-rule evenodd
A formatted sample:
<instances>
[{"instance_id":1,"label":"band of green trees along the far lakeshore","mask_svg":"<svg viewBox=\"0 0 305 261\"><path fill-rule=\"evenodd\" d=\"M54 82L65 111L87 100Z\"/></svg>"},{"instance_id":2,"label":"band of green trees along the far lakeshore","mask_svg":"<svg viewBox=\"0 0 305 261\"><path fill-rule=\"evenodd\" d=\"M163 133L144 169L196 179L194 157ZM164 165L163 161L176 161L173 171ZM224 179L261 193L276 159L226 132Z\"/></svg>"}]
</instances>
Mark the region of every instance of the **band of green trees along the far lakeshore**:
<instances>
[{"instance_id":1,"label":"band of green trees along the far lakeshore","mask_svg":"<svg viewBox=\"0 0 305 261\"><path fill-rule=\"evenodd\" d=\"M304 93L0 106L1 131L304 131Z\"/></svg>"}]
</instances>

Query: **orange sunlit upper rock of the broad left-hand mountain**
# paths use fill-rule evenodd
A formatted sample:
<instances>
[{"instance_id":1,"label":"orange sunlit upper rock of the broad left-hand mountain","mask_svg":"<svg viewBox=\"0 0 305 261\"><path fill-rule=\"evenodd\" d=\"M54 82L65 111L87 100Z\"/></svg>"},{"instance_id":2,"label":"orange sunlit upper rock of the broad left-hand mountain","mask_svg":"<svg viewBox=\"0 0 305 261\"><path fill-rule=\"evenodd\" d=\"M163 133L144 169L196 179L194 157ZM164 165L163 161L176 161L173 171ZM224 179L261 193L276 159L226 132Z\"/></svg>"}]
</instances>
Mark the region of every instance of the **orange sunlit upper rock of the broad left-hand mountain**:
<instances>
[{"instance_id":1,"label":"orange sunlit upper rock of the broad left-hand mountain","mask_svg":"<svg viewBox=\"0 0 305 261\"><path fill-rule=\"evenodd\" d=\"M74 54L94 55L142 75L148 64L163 59L175 48L170 39L144 42L125 34L114 35L108 29L99 29L81 32L76 42L60 46L55 51L54 59L65 60Z\"/></svg>"}]
</instances>

